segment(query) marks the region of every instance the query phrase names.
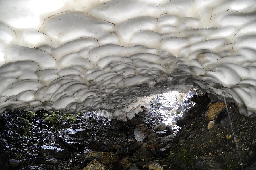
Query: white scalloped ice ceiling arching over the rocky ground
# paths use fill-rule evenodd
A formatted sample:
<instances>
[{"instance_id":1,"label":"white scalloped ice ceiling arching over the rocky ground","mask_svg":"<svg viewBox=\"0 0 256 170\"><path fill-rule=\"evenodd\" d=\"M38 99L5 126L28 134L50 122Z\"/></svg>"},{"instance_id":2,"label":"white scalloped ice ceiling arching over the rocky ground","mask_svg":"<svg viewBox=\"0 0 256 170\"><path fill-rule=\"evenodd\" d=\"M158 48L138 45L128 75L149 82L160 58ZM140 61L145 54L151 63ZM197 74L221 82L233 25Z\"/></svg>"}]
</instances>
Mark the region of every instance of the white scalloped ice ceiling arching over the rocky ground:
<instances>
[{"instance_id":1,"label":"white scalloped ice ceiling arching over the rocky ground","mask_svg":"<svg viewBox=\"0 0 256 170\"><path fill-rule=\"evenodd\" d=\"M130 119L154 94L256 111L255 0L0 1L0 112Z\"/></svg>"}]
</instances>

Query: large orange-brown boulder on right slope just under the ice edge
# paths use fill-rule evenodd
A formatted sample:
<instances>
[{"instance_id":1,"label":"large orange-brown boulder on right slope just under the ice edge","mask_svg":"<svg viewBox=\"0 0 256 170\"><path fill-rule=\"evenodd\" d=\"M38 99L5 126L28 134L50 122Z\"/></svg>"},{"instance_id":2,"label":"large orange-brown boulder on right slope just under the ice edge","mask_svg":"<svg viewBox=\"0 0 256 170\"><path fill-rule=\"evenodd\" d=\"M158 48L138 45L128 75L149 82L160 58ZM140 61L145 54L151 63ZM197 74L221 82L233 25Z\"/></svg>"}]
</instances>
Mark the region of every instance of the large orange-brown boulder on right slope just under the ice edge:
<instances>
[{"instance_id":1,"label":"large orange-brown boulder on right slope just under the ice edge","mask_svg":"<svg viewBox=\"0 0 256 170\"><path fill-rule=\"evenodd\" d=\"M205 112L205 120L211 121L220 114L220 112L226 107L225 102L216 102L210 104L208 110Z\"/></svg>"}]
</instances>

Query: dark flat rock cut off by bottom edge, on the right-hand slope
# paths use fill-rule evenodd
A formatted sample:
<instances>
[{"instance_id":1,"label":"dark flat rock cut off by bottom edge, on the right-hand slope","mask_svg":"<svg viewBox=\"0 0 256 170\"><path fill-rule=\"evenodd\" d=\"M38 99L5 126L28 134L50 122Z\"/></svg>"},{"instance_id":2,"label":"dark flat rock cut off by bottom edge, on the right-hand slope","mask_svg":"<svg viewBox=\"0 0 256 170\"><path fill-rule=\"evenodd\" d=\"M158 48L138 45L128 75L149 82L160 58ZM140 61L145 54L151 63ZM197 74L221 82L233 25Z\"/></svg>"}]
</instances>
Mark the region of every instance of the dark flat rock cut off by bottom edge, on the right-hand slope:
<instances>
[{"instance_id":1,"label":"dark flat rock cut off by bottom edge, on the right-hand slope","mask_svg":"<svg viewBox=\"0 0 256 170\"><path fill-rule=\"evenodd\" d=\"M195 170L221 170L220 165L218 165L218 163L203 160L200 158L194 159L194 169Z\"/></svg>"}]
</instances>

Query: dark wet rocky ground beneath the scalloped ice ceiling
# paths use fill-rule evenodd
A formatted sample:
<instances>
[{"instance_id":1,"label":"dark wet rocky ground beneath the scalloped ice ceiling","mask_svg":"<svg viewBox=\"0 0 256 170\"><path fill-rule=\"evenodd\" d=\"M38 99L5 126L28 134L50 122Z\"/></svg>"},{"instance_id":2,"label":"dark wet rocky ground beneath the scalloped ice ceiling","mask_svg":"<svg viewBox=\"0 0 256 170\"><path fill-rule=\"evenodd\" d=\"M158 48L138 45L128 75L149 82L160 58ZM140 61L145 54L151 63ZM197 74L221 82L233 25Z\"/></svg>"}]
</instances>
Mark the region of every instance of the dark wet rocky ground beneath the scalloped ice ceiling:
<instances>
[{"instance_id":1,"label":"dark wet rocky ground beneath the scalloped ice ceiling","mask_svg":"<svg viewBox=\"0 0 256 170\"><path fill-rule=\"evenodd\" d=\"M245 117L231 103L234 133L226 108L212 127L205 120L209 99L190 91L177 108L183 114L166 126L160 98L127 122L109 122L92 112L4 112L0 169L255 169L255 115Z\"/></svg>"}]
</instances>

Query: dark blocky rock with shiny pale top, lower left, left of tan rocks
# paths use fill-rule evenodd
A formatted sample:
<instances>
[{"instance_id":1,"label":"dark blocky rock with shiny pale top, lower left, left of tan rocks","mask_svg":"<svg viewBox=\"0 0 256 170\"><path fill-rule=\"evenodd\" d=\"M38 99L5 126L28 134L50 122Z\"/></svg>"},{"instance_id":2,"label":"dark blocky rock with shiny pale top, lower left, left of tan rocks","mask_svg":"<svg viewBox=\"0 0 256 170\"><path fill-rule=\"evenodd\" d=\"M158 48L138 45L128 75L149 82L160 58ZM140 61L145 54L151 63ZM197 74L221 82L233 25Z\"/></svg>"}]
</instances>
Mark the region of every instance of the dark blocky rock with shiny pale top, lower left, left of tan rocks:
<instances>
[{"instance_id":1,"label":"dark blocky rock with shiny pale top, lower left, left of tan rocks","mask_svg":"<svg viewBox=\"0 0 256 170\"><path fill-rule=\"evenodd\" d=\"M43 145L40 149L44 153L45 158L67 159L70 156L68 151L55 146Z\"/></svg>"}]
</instances>

